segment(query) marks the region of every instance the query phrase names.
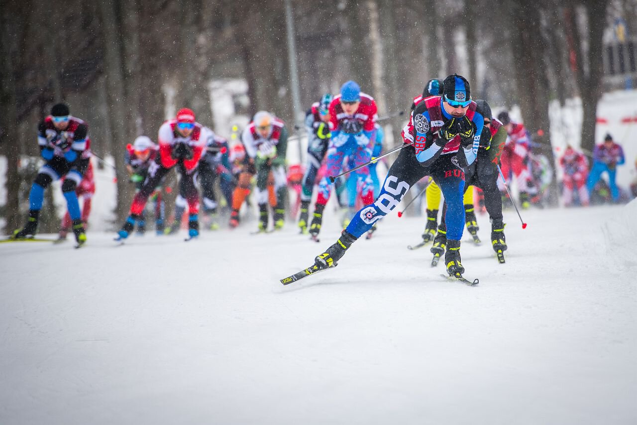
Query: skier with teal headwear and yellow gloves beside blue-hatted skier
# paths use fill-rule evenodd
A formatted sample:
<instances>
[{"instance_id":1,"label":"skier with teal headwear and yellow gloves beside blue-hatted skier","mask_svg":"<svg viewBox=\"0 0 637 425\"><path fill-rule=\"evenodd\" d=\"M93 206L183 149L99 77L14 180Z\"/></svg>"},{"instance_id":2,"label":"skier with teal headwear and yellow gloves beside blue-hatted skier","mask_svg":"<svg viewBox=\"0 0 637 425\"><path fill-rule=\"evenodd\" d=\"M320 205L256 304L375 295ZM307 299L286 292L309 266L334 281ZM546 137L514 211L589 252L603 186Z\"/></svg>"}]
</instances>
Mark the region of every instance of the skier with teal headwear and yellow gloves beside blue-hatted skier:
<instances>
[{"instance_id":1,"label":"skier with teal headwear and yellow gloves beside blue-hatted skier","mask_svg":"<svg viewBox=\"0 0 637 425\"><path fill-rule=\"evenodd\" d=\"M314 184L318 170L325 158L329 140L332 137L332 123L329 115L331 102L332 95L329 93L324 94L320 101L312 104L305 116L305 127L308 131L308 159L301 191L301 214L299 215L298 223L301 233L305 233L308 227L308 211Z\"/></svg>"}]
</instances>

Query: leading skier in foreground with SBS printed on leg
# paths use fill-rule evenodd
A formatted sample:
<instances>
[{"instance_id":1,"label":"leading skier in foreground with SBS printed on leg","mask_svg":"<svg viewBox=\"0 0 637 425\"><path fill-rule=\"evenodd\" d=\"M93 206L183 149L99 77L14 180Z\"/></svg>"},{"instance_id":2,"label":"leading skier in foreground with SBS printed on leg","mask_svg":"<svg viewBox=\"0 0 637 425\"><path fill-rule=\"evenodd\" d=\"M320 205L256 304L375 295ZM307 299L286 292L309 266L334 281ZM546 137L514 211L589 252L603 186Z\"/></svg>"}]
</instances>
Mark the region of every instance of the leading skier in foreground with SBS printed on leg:
<instances>
[{"instance_id":1,"label":"leading skier in foreground with SBS printed on leg","mask_svg":"<svg viewBox=\"0 0 637 425\"><path fill-rule=\"evenodd\" d=\"M445 78L443 96L422 100L413 110L402 133L404 142L413 146L401 149L376 202L356 213L338 241L317 255L315 264L308 270L336 266L345 251L376 221L389 214L414 183L431 175L448 203L447 272L462 278L463 168L475 161L482 128L483 117L476 112L476 103L471 101L469 82L457 74Z\"/></svg>"}]
</instances>

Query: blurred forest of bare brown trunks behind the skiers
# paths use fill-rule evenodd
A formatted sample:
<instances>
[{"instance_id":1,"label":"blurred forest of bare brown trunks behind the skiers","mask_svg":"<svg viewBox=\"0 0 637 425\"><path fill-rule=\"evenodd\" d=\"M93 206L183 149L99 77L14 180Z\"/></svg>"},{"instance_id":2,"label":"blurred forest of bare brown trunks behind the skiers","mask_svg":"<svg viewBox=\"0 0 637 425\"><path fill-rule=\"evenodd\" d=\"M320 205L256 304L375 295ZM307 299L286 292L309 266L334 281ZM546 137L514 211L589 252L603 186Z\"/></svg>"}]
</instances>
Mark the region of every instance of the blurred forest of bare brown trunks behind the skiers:
<instances>
[{"instance_id":1,"label":"blurred forest of bare brown trunks behind the skiers","mask_svg":"<svg viewBox=\"0 0 637 425\"><path fill-rule=\"evenodd\" d=\"M592 150L608 4L637 10L636 0L290 3L303 108L354 79L376 98L379 115L408 110L429 78L459 73L473 98L520 105L550 158L555 99L582 98L582 145ZM20 155L38 154L36 123L57 101L88 121L92 149L112 154L119 170L124 146L144 133L156 138L175 108L191 107L212 126L211 80L246 80L250 113L266 109L294 122L282 0L0 0L0 24L8 229L23 220ZM404 117L384 124L397 143ZM131 191L118 179L120 217Z\"/></svg>"}]
</instances>

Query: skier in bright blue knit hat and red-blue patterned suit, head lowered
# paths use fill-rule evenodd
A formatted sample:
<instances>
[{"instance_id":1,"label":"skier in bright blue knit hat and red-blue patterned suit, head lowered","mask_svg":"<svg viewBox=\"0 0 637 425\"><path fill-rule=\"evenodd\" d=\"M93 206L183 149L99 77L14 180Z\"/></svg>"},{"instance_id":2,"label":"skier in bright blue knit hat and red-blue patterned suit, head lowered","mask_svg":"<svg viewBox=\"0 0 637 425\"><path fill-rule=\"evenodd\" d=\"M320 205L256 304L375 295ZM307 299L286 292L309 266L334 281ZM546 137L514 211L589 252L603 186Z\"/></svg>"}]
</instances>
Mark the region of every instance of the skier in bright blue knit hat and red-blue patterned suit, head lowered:
<instances>
[{"instance_id":1,"label":"skier in bright blue knit hat and red-blue patterned suit, head lowered","mask_svg":"<svg viewBox=\"0 0 637 425\"><path fill-rule=\"evenodd\" d=\"M376 102L354 81L348 81L341 87L329 105L329 119L332 124L332 137L327 149L327 175L334 176L343 169L343 160L358 167L371 160L372 135L376 120ZM361 191L364 204L371 204L374 188L369 177L369 167L355 171L357 186ZM331 184L327 177L320 181L320 191L310 225L310 234L317 239L323 221L323 211L331 195Z\"/></svg>"}]
</instances>

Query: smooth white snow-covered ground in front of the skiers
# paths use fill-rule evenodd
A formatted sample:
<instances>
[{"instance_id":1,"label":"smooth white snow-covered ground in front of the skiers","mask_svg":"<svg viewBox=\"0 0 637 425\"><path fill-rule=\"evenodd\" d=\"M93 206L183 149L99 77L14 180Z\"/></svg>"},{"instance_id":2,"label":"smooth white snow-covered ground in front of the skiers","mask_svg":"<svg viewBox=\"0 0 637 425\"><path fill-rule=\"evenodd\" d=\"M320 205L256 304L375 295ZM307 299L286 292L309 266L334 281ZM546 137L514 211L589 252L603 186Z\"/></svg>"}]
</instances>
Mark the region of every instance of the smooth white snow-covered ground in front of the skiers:
<instances>
[{"instance_id":1,"label":"smooth white snow-covered ground in front of the skiers","mask_svg":"<svg viewBox=\"0 0 637 425\"><path fill-rule=\"evenodd\" d=\"M637 423L637 201L505 213L429 267L392 216L334 270L282 232L0 244L0 424Z\"/></svg>"}]
</instances>

